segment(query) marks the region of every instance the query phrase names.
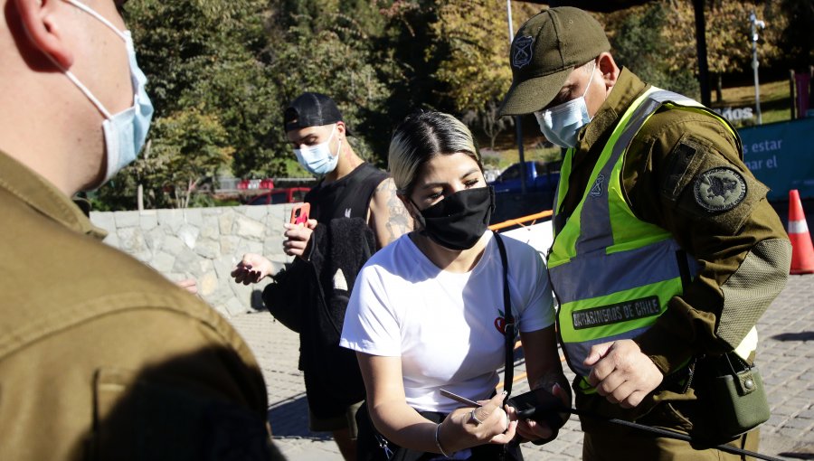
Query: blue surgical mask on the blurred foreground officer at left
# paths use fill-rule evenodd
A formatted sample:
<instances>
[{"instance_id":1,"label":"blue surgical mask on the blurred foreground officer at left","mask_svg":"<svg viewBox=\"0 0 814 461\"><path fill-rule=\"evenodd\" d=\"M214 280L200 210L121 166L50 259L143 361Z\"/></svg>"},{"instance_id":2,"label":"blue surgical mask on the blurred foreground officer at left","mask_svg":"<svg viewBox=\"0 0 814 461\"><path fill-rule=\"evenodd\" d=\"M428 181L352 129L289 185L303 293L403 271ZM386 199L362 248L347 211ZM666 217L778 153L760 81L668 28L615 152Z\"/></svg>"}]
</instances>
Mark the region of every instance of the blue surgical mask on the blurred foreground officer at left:
<instances>
[{"instance_id":1,"label":"blue surgical mask on the blurred foreground officer at left","mask_svg":"<svg viewBox=\"0 0 814 461\"><path fill-rule=\"evenodd\" d=\"M105 116L105 121L102 122L102 130L105 134L105 152L107 155L107 171L101 183L96 187L107 183L110 178L118 173L119 170L136 160L138 152L144 146L147 139L147 130L150 127L150 120L153 118L153 103L147 96L145 85L147 84L147 77L144 72L138 68L136 61L136 50L133 48L133 39L130 36L130 31L119 31L118 28L110 23L101 14L90 9L88 5L81 4L77 0L66 0L71 5L76 6L83 12L90 14L98 19L102 24L107 25L114 33L121 37L125 42L125 47L128 50L128 60L130 63L130 80L133 85L133 105L118 114L110 114L109 110L102 105L102 103L93 96L76 76L67 69L62 69L62 72L80 89L85 96L90 99L99 112ZM50 57L50 55L49 55ZM54 61L52 59L52 61ZM54 61L56 63L56 61ZM59 64L57 64L58 67Z\"/></svg>"}]
</instances>

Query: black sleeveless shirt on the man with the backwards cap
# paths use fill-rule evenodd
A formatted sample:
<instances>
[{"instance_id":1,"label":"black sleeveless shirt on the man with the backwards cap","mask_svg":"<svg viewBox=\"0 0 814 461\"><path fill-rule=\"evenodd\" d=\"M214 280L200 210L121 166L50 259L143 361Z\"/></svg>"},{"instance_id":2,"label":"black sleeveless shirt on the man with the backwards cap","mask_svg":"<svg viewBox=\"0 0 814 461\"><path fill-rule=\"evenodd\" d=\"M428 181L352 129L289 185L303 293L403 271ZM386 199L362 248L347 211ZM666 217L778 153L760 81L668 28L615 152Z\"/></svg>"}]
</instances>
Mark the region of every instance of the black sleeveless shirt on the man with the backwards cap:
<instances>
[{"instance_id":1,"label":"black sleeveless shirt on the man with the backwards cap","mask_svg":"<svg viewBox=\"0 0 814 461\"><path fill-rule=\"evenodd\" d=\"M321 223L336 218L362 218L367 221L370 199L385 178L386 173L364 162L333 183L320 181L303 199L311 204L309 217Z\"/></svg>"}]
</instances>

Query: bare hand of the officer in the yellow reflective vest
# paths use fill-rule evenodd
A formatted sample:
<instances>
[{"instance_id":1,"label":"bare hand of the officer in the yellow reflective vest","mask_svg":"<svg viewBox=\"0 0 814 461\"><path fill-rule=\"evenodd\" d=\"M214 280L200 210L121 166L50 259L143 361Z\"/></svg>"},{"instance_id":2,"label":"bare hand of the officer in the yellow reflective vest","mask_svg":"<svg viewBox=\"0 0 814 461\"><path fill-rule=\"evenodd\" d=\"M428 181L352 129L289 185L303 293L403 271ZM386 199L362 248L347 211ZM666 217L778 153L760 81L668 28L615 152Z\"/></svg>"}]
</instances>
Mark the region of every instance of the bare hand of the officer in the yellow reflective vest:
<instances>
[{"instance_id":1,"label":"bare hand of the officer in the yellow reflective vest","mask_svg":"<svg viewBox=\"0 0 814 461\"><path fill-rule=\"evenodd\" d=\"M588 382L601 396L623 409L639 405L664 380L639 344L629 339L594 345L582 363L592 367Z\"/></svg>"}]
</instances>

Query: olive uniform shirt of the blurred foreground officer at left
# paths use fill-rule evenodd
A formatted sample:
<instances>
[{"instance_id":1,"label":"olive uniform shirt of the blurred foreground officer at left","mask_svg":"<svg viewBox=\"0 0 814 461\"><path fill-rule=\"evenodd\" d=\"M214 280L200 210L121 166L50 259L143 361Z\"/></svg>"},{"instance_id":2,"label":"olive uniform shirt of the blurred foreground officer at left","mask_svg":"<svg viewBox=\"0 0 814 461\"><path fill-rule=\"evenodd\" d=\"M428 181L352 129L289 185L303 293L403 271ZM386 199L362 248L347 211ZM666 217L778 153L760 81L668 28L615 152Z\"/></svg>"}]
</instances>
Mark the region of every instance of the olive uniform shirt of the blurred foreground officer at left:
<instances>
[{"instance_id":1,"label":"olive uniform shirt of the blurred foreground officer at left","mask_svg":"<svg viewBox=\"0 0 814 461\"><path fill-rule=\"evenodd\" d=\"M222 316L2 152L0 216L3 459L270 458L262 375Z\"/></svg>"}]
</instances>

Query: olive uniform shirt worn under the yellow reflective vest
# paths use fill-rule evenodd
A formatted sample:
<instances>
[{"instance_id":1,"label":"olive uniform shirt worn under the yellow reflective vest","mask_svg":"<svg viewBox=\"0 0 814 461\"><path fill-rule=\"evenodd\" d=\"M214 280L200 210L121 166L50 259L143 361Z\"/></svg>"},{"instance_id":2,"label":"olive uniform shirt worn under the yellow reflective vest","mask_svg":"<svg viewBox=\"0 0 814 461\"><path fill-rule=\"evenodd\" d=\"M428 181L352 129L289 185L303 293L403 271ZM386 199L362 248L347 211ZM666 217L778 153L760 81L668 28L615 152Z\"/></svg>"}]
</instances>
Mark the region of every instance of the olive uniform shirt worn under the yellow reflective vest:
<instances>
[{"instance_id":1,"label":"olive uniform shirt worn under the yellow reflective vest","mask_svg":"<svg viewBox=\"0 0 814 461\"><path fill-rule=\"evenodd\" d=\"M563 217L582 199L620 117L648 88L630 71L620 72L580 133L571 183L558 211ZM668 230L698 263L685 292L674 296L635 341L666 374L691 357L732 351L789 274L790 242L766 200L768 189L743 164L740 141L719 120L693 111L659 109L633 138L624 162L621 181L630 209L640 220ZM697 187L716 168L734 170L745 184L746 193L726 211L709 210Z\"/></svg>"}]
</instances>

